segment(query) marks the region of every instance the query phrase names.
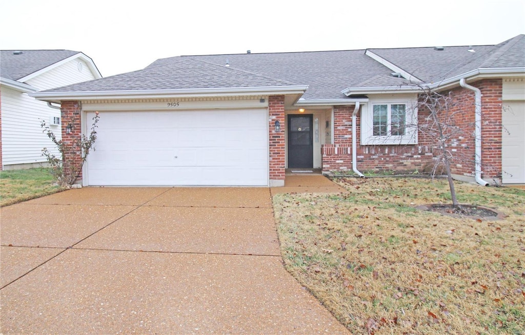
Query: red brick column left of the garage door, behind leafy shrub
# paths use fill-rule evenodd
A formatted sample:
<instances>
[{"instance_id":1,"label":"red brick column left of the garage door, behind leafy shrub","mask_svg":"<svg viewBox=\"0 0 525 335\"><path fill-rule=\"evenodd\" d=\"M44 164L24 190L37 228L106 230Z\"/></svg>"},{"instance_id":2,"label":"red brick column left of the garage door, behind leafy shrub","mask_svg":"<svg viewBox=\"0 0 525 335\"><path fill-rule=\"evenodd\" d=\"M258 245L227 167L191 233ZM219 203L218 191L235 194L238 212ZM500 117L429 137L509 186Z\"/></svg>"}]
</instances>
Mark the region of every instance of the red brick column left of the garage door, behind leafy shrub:
<instances>
[{"instance_id":1,"label":"red brick column left of the garage door, behind leafy shrub","mask_svg":"<svg viewBox=\"0 0 525 335\"><path fill-rule=\"evenodd\" d=\"M81 123L81 105L80 101L62 101L61 102L61 123L62 123L62 142L70 148L66 152L66 162L64 169L70 169L67 163L71 161L72 166L77 169L77 182L82 180L82 169L79 165L82 163L81 148L77 145L82 136Z\"/></svg>"}]
</instances>

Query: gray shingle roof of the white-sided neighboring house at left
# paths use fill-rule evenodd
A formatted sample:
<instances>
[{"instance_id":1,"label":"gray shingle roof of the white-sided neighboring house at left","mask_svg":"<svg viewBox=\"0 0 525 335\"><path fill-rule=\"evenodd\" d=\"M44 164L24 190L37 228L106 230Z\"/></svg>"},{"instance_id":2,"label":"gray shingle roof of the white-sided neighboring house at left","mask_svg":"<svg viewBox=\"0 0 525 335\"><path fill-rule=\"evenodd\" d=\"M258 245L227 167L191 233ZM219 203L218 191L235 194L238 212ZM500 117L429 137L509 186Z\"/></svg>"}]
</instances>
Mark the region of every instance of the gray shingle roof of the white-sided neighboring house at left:
<instances>
[{"instance_id":1,"label":"gray shingle roof of the white-sided neighboring house at left","mask_svg":"<svg viewBox=\"0 0 525 335\"><path fill-rule=\"evenodd\" d=\"M22 51L22 53L15 55L15 51ZM79 51L2 50L0 51L0 76L10 80L18 80L77 53Z\"/></svg>"}]
</instances>

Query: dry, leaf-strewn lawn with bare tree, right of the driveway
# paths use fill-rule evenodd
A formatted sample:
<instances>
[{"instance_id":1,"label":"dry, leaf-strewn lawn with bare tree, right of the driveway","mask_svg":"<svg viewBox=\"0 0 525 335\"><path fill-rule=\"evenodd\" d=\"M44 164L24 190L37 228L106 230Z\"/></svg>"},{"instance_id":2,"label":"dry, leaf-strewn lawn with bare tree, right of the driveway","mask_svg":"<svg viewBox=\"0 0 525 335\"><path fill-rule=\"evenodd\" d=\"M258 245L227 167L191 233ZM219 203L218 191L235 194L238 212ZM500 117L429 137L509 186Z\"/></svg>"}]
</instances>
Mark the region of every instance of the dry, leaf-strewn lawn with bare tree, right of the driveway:
<instances>
[{"instance_id":1,"label":"dry, leaf-strewn lawn with bare tree, right of the driveway","mask_svg":"<svg viewBox=\"0 0 525 335\"><path fill-rule=\"evenodd\" d=\"M457 182L505 214L453 218L444 180L340 179L340 194L274 196L288 271L354 334L523 334L525 190Z\"/></svg>"}]
</instances>

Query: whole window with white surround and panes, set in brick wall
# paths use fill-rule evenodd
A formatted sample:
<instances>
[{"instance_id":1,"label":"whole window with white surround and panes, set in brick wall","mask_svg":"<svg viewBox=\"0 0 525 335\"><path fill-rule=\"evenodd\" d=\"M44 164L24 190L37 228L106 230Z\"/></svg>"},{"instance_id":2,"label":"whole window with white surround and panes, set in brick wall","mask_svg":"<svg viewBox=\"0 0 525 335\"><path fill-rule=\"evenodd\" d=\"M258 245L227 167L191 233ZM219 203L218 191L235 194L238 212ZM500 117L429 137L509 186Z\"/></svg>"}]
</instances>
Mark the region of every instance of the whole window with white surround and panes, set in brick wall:
<instances>
[{"instance_id":1,"label":"whole window with white surround and panes, set in brick wall","mask_svg":"<svg viewBox=\"0 0 525 335\"><path fill-rule=\"evenodd\" d=\"M409 102L372 102L363 106L361 143L415 144L417 110L409 108Z\"/></svg>"}]
</instances>

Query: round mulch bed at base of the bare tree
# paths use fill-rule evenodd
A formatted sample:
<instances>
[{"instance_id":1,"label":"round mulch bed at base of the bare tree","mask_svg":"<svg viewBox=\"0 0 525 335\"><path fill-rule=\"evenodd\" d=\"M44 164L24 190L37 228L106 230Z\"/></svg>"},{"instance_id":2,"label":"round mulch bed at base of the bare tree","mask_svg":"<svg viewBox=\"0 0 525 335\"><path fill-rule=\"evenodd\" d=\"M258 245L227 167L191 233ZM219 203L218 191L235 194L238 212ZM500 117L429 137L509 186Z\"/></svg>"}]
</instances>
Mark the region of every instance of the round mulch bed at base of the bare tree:
<instances>
[{"instance_id":1,"label":"round mulch bed at base of the bare tree","mask_svg":"<svg viewBox=\"0 0 525 335\"><path fill-rule=\"evenodd\" d=\"M422 206L417 206L416 208L422 211L436 212L442 215L447 215L454 218L467 218L474 220L501 220L506 218L507 215L503 213L496 212L487 207L481 207L470 204L460 204L462 211L454 209L452 204L444 203L431 203Z\"/></svg>"}]
</instances>

